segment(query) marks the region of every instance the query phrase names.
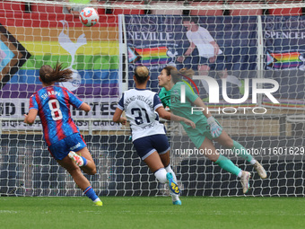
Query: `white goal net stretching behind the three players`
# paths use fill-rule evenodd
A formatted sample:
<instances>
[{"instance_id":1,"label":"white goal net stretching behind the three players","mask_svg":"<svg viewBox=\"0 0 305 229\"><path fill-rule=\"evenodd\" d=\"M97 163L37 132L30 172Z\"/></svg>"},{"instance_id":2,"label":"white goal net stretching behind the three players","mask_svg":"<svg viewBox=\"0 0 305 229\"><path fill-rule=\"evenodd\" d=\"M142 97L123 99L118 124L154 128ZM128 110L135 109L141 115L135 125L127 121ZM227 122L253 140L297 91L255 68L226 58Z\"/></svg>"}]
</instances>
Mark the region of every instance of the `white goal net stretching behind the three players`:
<instances>
[{"instance_id":1,"label":"white goal net stretching behind the three players","mask_svg":"<svg viewBox=\"0 0 305 229\"><path fill-rule=\"evenodd\" d=\"M74 72L60 84L89 103L72 109L97 174L98 195L167 195L129 140L112 122L116 104L135 86L135 66L147 66L147 87L160 92L165 66L191 68L183 77L235 141L262 163L253 166L215 142L252 173L252 196L304 196L305 17L302 1L107 1L89 4L100 22L84 27L65 2L0 2L0 195L81 196L72 177L48 153L39 119L23 123L29 98L42 86L39 68L57 61ZM77 11L85 6L71 4ZM192 35L192 30L202 31ZM196 36L194 38L194 36ZM199 41L200 40L200 41ZM209 161L179 123L164 122L171 165L182 195L240 196L240 180Z\"/></svg>"}]
</instances>

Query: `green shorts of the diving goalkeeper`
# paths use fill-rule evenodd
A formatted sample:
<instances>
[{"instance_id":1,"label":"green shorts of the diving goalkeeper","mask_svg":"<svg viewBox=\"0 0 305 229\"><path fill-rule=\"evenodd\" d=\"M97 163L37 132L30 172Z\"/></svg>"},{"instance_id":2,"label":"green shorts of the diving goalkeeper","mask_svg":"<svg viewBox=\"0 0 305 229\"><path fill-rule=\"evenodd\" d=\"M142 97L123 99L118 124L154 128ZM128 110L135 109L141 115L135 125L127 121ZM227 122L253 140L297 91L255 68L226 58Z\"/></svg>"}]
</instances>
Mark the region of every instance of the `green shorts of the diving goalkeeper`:
<instances>
[{"instance_id":1,"label":"green shorts of the diving goalkeeper","mask_svg":"<svg viewBox=\"0 0 305 229\"><path fill-rule=\"evenodd\" d=\"M219 124L218 121L217 123ZM197 121L196 128L191 128L188 126L186 128L186 125L183 125L183 127L187 132L187 136L191 139L196 148L199 148L203 144L203 142L205 141L205 137L210 140L213 139L210 131L210 126L207 124L206 119L200 119L199 121Z\"/></svg>"}]
</instances>

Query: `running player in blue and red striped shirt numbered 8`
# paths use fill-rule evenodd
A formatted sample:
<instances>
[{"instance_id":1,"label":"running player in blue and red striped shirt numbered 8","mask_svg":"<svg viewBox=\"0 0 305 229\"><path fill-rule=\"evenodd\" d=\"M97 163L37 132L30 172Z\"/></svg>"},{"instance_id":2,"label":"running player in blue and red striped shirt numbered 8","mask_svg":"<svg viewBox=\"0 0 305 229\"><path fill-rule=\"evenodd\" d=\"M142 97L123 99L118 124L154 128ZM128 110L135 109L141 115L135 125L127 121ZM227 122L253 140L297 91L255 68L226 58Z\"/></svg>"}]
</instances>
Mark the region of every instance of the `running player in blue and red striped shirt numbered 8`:
<instances>
[{"instance_id":1,"label":"running player in blue and red striped shirt numbered 8","mask_svg":"<svg viewBox=\"0 0 305 229\"><path fill-rule=\"evenodd\" d=\"M39 115L48 151L57 163L71 174L75 183L83 189L84 194L91 198L95 205L102 206L91 183L81 172L82 169L83 172L94 175L96 165L79 129L71 118L70 104L86 112L89 112L91 108L73 92L55 85L56 82L65 82L72 78L72 71L62 68L62 65L58 63L54 68L41 66L39 80L43 88L30 96L29 114L24 115L24 122L33 124L36 116Z\"/></svg>"}]
</instances>

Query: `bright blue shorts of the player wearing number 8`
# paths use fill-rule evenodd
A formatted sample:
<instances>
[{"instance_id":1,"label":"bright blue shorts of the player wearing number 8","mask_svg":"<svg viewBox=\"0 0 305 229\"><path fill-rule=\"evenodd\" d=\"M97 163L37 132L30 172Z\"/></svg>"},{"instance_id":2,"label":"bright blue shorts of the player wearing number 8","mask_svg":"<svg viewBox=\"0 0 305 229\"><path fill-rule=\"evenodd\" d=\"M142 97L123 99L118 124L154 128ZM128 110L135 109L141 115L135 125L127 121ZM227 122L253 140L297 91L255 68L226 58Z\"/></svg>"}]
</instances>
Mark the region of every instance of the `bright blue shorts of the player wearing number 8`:
<instances>
[{"instance_id":1,"label":"bright blue shorts of the player wearing number 8","mask_svg":"<svg viewBox=\"0 0 305 229\"><path fill-rule=\"evenodd\" d=\"M59 142L48 146L49 153L57 160L63 160L70 151L80 151L87 145L80 133L74 133L71 136L65 137Z\"/></svg>"}]
</instances>

